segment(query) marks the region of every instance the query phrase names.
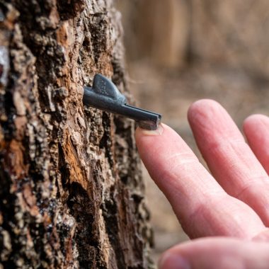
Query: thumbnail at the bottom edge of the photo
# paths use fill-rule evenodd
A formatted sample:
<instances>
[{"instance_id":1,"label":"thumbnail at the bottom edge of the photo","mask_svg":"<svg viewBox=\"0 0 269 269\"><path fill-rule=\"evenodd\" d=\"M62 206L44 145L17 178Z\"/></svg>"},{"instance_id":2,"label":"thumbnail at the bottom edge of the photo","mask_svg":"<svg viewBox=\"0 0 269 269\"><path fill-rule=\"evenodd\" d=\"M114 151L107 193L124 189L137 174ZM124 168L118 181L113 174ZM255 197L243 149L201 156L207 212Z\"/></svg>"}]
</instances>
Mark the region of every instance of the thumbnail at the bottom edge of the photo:
<instances>
[{"instance_id":1,"label":"thumbnail at the bottom edge of the photo","mask_svg":"<svg viewBox=\"0 0 269 269\"><path fill-rule=\"evenodd\" d=\"M188 261L175 253L164 253L159 260L159 269L191 269Z\"/></svg>"}]
</instances>

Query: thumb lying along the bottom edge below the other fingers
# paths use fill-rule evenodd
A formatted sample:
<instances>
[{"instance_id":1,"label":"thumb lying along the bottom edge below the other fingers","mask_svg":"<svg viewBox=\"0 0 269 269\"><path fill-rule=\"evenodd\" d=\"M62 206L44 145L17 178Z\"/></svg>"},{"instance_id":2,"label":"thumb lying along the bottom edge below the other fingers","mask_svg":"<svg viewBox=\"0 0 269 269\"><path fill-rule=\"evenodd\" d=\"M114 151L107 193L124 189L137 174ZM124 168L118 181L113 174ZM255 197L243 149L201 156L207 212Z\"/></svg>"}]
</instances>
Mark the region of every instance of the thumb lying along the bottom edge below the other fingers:
<instances>
[{"instance_id":1,"label":"thumb lying along the bottom edge below the other fingers","mask_svg":"<svg viewBox=\"0 0 269 269\"><path fill-rule=\"evenodd\" d=\"M268 269L269 244L224 237L197 239L164 253L160 269Z\"/></svg>"}]
</instances>

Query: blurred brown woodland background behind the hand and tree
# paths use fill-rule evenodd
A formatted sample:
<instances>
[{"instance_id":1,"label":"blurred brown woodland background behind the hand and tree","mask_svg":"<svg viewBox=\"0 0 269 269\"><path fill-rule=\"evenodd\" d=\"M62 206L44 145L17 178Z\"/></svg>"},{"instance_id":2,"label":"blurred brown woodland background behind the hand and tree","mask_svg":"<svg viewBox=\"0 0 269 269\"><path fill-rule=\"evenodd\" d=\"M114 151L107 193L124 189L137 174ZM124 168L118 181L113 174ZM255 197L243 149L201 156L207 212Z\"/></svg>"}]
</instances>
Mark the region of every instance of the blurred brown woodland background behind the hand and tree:
<instances>
[{"instance_id":1,"label":"blurred brown woodland background behind the hand and tree","mask_svg":"<svg viewBox=\"0 0 269 269\"><path fill-rule=\"evenodd\" d=\"M186 117L194 101L219 101L239 128L250 114L269 114L268 0L115 2L137 105L161 113L200 159ZM144 178L156 259L188 237L145 169Z\"/></svg>"}]
</instances>

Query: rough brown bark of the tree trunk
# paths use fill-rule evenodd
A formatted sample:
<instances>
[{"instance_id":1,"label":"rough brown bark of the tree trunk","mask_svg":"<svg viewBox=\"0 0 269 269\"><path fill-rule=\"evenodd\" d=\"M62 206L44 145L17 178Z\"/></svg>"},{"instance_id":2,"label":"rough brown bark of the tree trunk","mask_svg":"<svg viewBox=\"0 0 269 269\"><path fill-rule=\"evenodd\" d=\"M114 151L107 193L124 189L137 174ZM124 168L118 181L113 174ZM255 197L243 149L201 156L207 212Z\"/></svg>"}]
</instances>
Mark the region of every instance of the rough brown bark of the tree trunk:
<instances>
[{"instance_id":1,"label":"rough brown bark of the tree trunk","mask_svg":"<svg viewBox=\"0 0 269 269\"><path fill-rule=\"evenodd\" d=\"M110 0L0 0L4 268L148 268L135 124L82 104L96 73L127 94Z\"/></svg>"}]
</instances>

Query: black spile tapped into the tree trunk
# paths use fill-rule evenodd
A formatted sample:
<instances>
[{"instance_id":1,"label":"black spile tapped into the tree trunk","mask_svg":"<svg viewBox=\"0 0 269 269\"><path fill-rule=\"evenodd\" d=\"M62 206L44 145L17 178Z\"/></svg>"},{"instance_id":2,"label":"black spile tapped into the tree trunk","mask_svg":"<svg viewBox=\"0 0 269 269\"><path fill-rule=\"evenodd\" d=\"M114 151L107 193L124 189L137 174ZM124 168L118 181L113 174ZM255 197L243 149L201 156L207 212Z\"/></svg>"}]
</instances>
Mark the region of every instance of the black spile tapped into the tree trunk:
<instances>
[{"instance_id":1,"label":"black spile tapped into the tree trunk","mask_svg":"<svg viewBox=\"0 0 269 269\"><path fill-rule=\"evenodd\" d=\"M127 105L125 96L115 84L101 74L94 76L92 87L84 87L83 102L84 105L136 120L139 127L147 130L156 130L161 121L160 114Z\"/></svg>"}]
</instances>

